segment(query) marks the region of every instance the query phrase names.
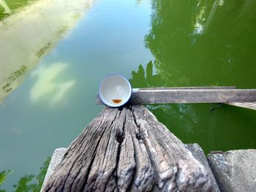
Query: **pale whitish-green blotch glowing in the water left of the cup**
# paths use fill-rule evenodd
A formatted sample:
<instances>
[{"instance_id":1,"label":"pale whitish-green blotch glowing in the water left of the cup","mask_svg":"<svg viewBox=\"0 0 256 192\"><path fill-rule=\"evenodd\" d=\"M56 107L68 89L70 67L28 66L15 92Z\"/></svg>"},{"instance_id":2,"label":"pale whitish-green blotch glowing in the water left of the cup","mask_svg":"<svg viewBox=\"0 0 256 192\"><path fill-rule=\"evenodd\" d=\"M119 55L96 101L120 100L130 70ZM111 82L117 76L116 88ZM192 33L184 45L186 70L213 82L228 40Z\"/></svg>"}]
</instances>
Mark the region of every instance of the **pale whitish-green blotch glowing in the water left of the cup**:
<instances>
[{"instance_id":1,"label":"pale whitish-green blotch glowing in the water left of the cup","mask_svg":"<svg viewBox=\"0 0 256 192\"><path fill-rule=\"evenodd\" d=\"M54 63L49 66L39 67L31 76L37 77L34 86L31 88L31 101L39 101L39 99L50 100L50 105L64 99L65 94L75 85L75 80L60 82L61 73L67 70L68 64Z\"/></svg>"}]
</instances>

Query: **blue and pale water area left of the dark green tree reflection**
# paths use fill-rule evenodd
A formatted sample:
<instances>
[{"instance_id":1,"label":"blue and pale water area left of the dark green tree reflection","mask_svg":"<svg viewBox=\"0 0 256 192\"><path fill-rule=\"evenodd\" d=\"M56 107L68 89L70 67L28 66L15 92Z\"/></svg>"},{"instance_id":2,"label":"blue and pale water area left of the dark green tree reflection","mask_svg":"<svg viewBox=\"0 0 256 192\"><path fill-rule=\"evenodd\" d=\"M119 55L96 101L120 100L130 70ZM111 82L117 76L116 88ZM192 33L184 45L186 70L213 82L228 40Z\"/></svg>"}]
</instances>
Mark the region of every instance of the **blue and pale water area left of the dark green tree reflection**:
<instances>
[{"instance_id":1,"label":"blue and pale water area left of the dark green tree reflection","mask_svg":"<svg viewBox=\"0 0 256 192\"><path fill-rule=\"evenodd\" d=\"M13 170L7 189L36 174L102 110L95 105L102 77L130 77L153 59L143 42L149 1L40 0L11 11L0 21L0 170Z\"/></svg>"}]
</instances>

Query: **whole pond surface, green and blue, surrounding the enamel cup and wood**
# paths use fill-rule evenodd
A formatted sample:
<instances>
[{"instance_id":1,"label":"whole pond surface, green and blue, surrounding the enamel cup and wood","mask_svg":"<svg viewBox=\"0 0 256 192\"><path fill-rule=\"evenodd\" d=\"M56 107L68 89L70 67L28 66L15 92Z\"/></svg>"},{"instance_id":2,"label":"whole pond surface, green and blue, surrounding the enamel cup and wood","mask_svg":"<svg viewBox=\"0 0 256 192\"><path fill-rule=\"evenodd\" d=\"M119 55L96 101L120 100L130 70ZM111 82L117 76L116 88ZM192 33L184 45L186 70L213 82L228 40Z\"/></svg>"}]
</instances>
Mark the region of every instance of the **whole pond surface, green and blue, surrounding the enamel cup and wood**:
<instances>
[{"instance_id":1,"label":"whole pond surface, green and blue, surrounding the enamel cup and wood","mask_svg":"<svg viewBox=\"0 0 256 192\"><path fill-rule=\"evenodd\" d=\"M256 1L0 0L0 172L13 190L102 110L99 81L133 87L256 88ZM148 105L183 142L256 147L256 112L217 104Z\"/></svg>"}]
</instances>

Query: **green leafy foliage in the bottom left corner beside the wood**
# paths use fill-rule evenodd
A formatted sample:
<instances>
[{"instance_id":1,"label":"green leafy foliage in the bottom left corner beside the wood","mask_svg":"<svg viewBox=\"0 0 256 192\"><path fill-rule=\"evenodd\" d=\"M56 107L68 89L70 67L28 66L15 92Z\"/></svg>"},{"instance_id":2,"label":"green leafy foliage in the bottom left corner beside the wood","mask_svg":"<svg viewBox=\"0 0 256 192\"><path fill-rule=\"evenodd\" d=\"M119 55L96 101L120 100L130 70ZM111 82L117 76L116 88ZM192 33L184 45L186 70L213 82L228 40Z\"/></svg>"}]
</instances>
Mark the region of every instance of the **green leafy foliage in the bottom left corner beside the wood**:
<instances>
[{"instance_id":1,"label":"green leafy foliage in the bottom left corner beside the wood","mask_svg":"<svg viewBox=\"0 0 256 192\"><path fill-rule=\"evenodd\" d=\"M44 164L40 167L39 174L25 174L25 176L21 177L20 180L18 180L18 183L13 185L15 192L39 192L42 188L42 183L45 180L45 174L49 164L50 157L48 157ZM0 172L0 186L6 180L7 174L10 173L11 171ZM5 190L0 188L0 192L5 192Z\"/></svg>"}]
</instances>

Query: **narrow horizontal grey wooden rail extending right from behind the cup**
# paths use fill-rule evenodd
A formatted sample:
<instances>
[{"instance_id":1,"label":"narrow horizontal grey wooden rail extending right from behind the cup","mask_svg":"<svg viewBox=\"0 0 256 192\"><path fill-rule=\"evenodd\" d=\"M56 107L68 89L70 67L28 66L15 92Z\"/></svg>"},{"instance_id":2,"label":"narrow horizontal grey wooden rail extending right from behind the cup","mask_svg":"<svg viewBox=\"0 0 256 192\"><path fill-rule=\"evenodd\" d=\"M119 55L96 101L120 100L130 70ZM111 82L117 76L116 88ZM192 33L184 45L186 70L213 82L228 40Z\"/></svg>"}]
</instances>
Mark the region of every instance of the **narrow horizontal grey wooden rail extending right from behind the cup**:
<instances>
[{"instance_id":1,"label":"narrow horizontal grey wooden rail extending right from behind the cup","mask_svg":"<svg viewBox=\"0 0 256 192\"><path fill-rule=\"evenodd\" d=\"M136 90L136 89L134 89ZM215 88L139 88L130 104L256 102L256 89ZM102 104L97 95L97 104Z\"/></svg>"}]
</instances>

